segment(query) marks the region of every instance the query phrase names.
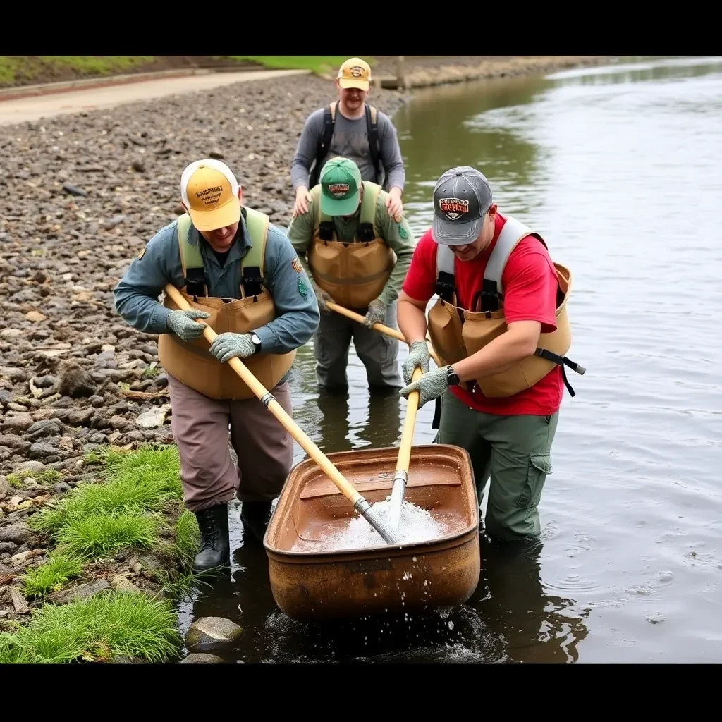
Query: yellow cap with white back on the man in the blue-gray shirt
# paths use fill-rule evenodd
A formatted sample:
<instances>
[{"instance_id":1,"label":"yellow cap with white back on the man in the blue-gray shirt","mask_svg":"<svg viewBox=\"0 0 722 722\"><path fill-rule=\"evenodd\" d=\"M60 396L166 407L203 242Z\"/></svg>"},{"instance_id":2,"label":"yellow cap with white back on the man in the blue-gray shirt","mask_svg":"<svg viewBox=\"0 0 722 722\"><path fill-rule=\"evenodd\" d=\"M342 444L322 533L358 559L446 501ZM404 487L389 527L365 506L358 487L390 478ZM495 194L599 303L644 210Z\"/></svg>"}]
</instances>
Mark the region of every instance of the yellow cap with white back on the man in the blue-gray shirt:
<instances>
[{"instance_id":1,"label":"yellow cap with white back on the man in the blue-gray shirt","mask_svg":"<svg viewBox=\"0 0 722 722\"><path fill-rule=\"evenodd\" d=\"M198 230L216 230L238 223L238 181L225 163L196 160L181 175L181 197Z\"/></svg>"}]
</instances>

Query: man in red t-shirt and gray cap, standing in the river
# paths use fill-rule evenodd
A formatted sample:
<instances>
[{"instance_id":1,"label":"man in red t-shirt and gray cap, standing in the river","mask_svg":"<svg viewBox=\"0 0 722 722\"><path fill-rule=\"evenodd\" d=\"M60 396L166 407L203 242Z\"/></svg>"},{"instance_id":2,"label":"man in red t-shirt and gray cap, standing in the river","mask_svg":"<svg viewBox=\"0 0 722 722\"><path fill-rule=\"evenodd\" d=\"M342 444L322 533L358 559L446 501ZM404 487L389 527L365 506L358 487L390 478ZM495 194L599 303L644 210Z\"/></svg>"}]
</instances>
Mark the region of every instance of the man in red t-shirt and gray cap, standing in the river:
<instances>
[{"instance_id":1,"label":"man in red t-shirt and gray cap, standing in the river","mask_svg":"<svg viewBox=\"0 0 722 722\"><path fill-rule=\"evenodd\" d=\"M490 479L485 531L497 539L539 535L564 365L584 373L565 357L570 282L540 235L498 212L482 173L463 166L439 178L432 228L399 297L409 344L400 393L419 391L419 408L438 399L436 442L469 452L479 502ZM445 364L432 371L427 330ZM412 383L416 367L424 375Z\"/></svg>"}]
</instances>

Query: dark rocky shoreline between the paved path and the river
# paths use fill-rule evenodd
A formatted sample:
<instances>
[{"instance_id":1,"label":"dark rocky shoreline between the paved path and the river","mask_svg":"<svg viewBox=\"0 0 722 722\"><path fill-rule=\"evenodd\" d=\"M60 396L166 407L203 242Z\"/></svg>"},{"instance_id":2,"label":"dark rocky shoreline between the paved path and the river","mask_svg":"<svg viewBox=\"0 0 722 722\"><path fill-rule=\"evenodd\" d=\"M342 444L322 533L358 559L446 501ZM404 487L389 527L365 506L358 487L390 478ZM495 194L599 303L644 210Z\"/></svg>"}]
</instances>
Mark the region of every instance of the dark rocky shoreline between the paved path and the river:
<instances>
[{"instance_id":1,"label":"dark rocky shoreline between the paved path and the river","mask_svg":"<svg viewBox=\"0 0 722 722\"><path fill-rule=\"evenodd\" d=\"M373 90L390 116L406 97ZM0 128L0 627L43 604L19 592L52 546L27 520L97 479L84 457L173 443L157 337L123 322L113 287L181 212L183 168L222 158L245 202L286 226L297 137L333 98L327 79L284 77ZM67 588L117 574L96 564Z\"/></svg>"}]
</instances>

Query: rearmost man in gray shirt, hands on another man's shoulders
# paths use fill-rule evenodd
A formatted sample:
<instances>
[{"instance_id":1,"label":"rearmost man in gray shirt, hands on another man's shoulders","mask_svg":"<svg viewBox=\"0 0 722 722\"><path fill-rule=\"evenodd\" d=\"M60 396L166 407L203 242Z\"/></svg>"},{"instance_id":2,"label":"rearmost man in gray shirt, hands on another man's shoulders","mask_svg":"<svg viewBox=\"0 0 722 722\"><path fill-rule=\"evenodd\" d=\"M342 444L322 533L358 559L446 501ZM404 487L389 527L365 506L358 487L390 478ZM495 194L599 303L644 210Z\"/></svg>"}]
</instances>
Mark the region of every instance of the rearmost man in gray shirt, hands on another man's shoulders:
<instances>
[{"instance_id":1,"label":"rearmost man in gray shirt, hands on another man's shoulders","mask_svg":"<svg viewBox=\"0 0 722 722\"><path fill-rule=\"evenodd\" d=\"M291 182L296 192L294 217L308 211L309 190L318 183L326 160L340 156L355 161L364 181L378 183L388 191L386 207L389 215L396 222L401 221L404 209L401 194L404 192L406 180L404 160L391 119L365 102L371 86L370 81L370 66L360 58L349 58L336 77L338 102L315 110L306 119L291 163ZM333 121L333 135L328 147L324 147L324 116L329 109ZM373 131L371 123L374 119L378 122L378 140L369 132ZM375 143L378 145L374 148ZM373 155L378 155L376 166Z\"/></svg>"}]
</instances>

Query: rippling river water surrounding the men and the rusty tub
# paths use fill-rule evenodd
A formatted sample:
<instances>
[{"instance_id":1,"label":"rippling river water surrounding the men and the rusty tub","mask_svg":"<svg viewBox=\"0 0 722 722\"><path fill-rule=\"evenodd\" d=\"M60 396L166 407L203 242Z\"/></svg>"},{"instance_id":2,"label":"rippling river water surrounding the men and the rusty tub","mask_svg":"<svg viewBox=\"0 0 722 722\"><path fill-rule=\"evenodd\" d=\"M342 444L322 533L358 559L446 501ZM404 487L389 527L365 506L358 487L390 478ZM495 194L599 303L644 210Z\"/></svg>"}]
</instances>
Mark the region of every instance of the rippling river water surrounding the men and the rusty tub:
<instances>
[{"instance_id":1,"label":"rippling river water surrounding the men and the rusty tub","mask_svg":"<svg viewBox=\"0 0 722 722\"><path fill-rule=\"evenodd\" d=\"M721 662L720 117L719 57L415 92L394 118L414 231L438 176L474 165L574 274L570 357L587 372L569 374L541 549L482 544L479 587L448 614L304 625L278 611L234 511L232 575L183 606L183 627L238 622L229 661ZM406 402L370 398L353 351L349 378L347 397L319 398L301 349L296 421L325 453L397 445ZM431 443L432 414L414 443Z\"/></svg>"}]
</instances>

